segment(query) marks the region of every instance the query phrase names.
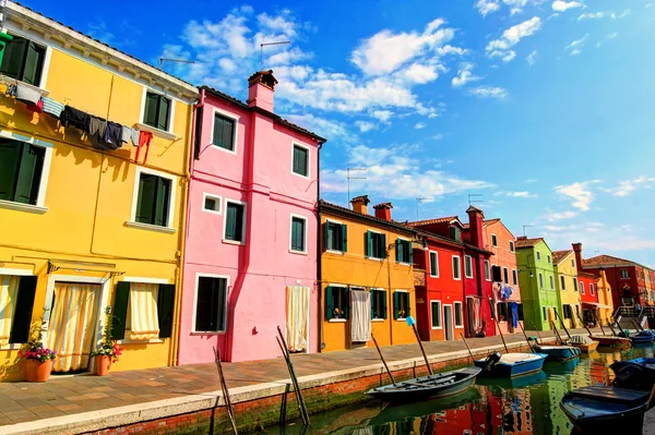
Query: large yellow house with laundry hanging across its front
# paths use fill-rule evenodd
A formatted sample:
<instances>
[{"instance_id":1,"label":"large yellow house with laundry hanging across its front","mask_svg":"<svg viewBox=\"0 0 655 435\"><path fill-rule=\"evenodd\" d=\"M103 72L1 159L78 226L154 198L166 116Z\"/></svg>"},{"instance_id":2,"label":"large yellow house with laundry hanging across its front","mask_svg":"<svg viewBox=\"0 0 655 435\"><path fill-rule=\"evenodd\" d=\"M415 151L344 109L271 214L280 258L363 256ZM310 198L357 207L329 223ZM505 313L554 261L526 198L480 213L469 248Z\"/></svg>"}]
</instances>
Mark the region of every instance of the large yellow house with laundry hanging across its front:
<instances>
[{"instance_id":1,"label":"large yellow house with laundry hanging across its front","mask_svg":"<svg viewBox=\"0 0 655 435\"><path fill-rule=\"evenodd\" d=\"M53 373L93 371L107 306L112 371L175 364L196 89L16 3L3 14L0 379L23 378L44 314Z\"/></svg>"}]
</instances>

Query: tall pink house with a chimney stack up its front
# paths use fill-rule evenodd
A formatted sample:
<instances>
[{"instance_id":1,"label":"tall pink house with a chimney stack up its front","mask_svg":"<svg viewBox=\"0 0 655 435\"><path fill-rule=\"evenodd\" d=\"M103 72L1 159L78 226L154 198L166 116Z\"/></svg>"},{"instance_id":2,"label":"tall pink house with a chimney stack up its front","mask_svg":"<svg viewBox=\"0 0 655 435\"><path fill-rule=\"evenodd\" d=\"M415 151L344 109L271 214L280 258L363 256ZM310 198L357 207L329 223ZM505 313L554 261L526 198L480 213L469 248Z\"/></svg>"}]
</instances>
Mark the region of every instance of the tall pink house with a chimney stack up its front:
<instances>
[{"instance_id":1,"label":"tall pink house with a chimney stack up its front","mask_svg":"<svg viewBox=\"0 0 655 435\"><path fill-rule=\"evenodd\" d=\"M248 101L201 87L193 125L179 364L315 352L319 150L273 113L272 71Z\"/></svg>"}]
</instances>

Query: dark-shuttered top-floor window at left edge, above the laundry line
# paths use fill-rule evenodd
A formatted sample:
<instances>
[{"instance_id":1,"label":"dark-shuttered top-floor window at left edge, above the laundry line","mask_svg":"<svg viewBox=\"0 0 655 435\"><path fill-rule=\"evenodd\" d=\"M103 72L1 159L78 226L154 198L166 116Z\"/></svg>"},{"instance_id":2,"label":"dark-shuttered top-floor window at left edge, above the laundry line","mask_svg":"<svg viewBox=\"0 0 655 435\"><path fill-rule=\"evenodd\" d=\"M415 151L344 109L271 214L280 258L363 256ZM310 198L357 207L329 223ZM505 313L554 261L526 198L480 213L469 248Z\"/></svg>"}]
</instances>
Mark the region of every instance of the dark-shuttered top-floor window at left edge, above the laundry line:
<instances>
[{"instance_id":1,"label":"dark-shuttered top-floor window at left edge, above the laundry line","mask_svg":"<svg viewBox=\"0 0 655 435\"><path fill-rule=\"evenodd\" d=\"M4 48L0 73L34 86L40 86L45 58L45 47L14 36Z\"/></svg>"}]
</instances>

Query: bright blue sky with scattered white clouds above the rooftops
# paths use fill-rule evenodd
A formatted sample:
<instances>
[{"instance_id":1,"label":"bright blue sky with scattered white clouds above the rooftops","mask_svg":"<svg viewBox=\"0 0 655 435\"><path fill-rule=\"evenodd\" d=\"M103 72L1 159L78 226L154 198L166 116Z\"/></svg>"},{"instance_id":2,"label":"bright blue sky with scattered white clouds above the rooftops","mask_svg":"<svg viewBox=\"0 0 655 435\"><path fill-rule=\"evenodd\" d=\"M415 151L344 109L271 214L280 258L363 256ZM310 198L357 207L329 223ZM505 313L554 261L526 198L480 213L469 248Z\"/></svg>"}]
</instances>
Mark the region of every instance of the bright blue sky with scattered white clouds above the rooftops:
<instances>
[{"instance_id":1,"label":"bright blue sky with scattered white clouds above the rooftops","mask_svg":"<svg viewBox=\"0 0 655 435\"><path fill-rule=\"evenodd\" d=\"M487 217L655 266L655 0L24 3L240 99L262 41L275 111L329 138L323 197L397 220Z\"/></svg>"}]
</instances>

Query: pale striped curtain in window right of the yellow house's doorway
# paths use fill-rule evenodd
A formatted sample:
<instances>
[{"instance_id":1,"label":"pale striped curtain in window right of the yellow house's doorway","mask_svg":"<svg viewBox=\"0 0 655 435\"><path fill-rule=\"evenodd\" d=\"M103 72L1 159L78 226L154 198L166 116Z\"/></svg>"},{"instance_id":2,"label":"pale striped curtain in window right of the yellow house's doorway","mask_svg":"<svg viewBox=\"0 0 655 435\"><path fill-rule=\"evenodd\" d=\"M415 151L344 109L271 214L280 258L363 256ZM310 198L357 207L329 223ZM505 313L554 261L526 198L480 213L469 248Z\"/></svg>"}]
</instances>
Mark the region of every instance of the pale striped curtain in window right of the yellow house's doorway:
<instances>
[{"instance_id":1,"label":"pale striped curtain in window right of the yellow house's doorway","mask_svg":"<svg viewBox=\"0 0 655 435\"><path fill-rule=\"evenodd\" d=\"M132 282L130 286L131 340L150 340L159 337L158 292L158 283Z\"/></svg>"}]
</instances>

